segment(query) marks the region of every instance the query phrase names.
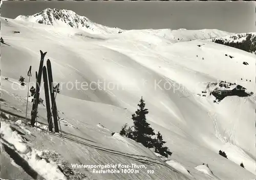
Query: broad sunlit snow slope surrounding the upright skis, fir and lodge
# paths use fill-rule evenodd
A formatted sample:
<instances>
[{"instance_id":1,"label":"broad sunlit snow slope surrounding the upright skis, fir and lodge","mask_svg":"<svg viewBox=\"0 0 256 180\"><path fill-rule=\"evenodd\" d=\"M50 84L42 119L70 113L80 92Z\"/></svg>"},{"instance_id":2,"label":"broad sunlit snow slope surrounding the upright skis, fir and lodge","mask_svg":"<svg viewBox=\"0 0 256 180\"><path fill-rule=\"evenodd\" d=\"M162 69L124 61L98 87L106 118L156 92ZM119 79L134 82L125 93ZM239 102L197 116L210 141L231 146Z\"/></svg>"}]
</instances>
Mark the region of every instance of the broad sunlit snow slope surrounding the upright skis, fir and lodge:
<instances>
[{"instance_id":1,"label":"broad sunlit snow slope surrounding the upright skis, fir and lodge","mask_svg":"<svg viewBox=\"0 0 256 180\"><path fill-rule=\"evenodd\" d=\"M34 149L55 150L69 163L136 163L155 170L154 174L147 174L143 168L137 174L94 174L75 168L90 179L255 177L255 96L229 96L217 103L208 88L210 82L227 81L255 92L254 55L205 40L173 43L168 37L145 30L95 35L71 27L5 18L1 18L1 25L5 42L1 44L3 110L25 116L27 87L21 89L13 82L20 75L28 82L30 65L31 81L35 80L39 50L48 52L53 79L62 83L57 107L66 139L24 125L34 135L26 135ZM92 87L82 89L82 82ZM44 99L43 91L40 95ZM124 123L132 124L131 115L141 96L150 112L148 122L173 152L170 166L140 144L118 134L111 136ZM12 122L5 121L10 132ZM47 122L44 106L39 107L38 122ZM99 123L110 131L97 126ZM219 150L225 151L228 159L220 156ZM214 176L195 168L202 163L208 164Z\"/></svg>"}]
</instances>

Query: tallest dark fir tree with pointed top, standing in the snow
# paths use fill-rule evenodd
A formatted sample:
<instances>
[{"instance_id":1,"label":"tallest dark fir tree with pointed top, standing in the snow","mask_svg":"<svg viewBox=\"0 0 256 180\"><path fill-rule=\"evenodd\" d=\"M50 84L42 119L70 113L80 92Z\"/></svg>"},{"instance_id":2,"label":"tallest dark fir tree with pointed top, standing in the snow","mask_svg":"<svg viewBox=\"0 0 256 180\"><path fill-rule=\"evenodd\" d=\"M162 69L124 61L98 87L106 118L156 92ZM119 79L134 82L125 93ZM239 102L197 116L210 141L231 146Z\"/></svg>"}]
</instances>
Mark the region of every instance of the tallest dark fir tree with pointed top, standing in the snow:
<instances>
[{"instance_id":1,"label":"tallest dark fir tree with pointed top, standing in the snow","mask_svg":"<svg viewBox=\"0 0 256 180\"><path fill-rule=\"evenodd\" d=\"M142 143L145 147L153 147L152 135L155 135L154 130L150 127L150 124L146 122L147 109L145 109L145 103L143 98L140 99L138 104L139 109L132 115L134 122L133 139Z\"/></svg>"}]
</instances>

